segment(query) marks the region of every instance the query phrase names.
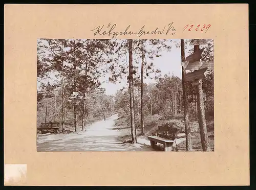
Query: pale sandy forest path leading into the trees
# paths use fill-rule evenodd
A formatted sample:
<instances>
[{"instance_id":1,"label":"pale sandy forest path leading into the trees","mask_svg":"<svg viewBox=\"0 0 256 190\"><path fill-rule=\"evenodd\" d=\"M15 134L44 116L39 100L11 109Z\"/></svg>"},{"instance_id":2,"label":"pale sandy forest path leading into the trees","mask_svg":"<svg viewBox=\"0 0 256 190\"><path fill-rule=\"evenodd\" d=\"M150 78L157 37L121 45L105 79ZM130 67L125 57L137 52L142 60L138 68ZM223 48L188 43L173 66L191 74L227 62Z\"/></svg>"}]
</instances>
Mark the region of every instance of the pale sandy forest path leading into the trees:
<instances>
[{"instance_id":1,"label":"pale sandy forest path leading into the trees","mask_svg":"<svg viewBox=\"0 0 256 190\"><path fill-rule=\"evenodd\" d=\"M78 133L37 134L37 151L154 151L146 144L123 144L118 137L127 130L115 129L117 115L86 126Z\"/></svg>"}]
</instances>

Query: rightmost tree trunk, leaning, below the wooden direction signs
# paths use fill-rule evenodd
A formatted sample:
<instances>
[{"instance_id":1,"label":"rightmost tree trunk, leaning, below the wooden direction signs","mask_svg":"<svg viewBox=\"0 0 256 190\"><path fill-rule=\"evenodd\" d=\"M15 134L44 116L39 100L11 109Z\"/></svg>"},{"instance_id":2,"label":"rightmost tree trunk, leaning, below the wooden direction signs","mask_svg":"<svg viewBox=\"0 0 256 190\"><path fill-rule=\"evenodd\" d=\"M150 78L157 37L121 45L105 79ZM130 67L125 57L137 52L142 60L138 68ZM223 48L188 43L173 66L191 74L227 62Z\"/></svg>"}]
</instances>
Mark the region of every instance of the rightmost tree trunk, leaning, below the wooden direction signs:
<instances>
[{"instance_id":1,"label":"rightmost tree trunk, leaning, below the wooden direction signs","mask_svg":"<svg viewBox=\"0 0 256 190\"><path fill-rule=\"evenodd\" d=\"M203 151L210 152L210 145L208 143L208 135L205 121L205 113L204 113L204 97L203 97L203 85L202 79L198 80L199 85L197 85L197 107L198 107L198 123L201 134L201 143Z\"/></svg>"}]
</instances>

